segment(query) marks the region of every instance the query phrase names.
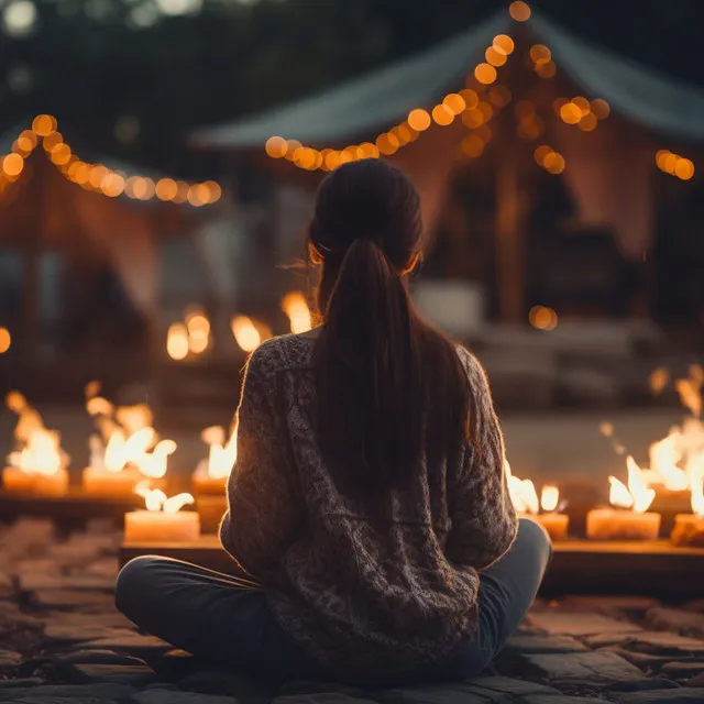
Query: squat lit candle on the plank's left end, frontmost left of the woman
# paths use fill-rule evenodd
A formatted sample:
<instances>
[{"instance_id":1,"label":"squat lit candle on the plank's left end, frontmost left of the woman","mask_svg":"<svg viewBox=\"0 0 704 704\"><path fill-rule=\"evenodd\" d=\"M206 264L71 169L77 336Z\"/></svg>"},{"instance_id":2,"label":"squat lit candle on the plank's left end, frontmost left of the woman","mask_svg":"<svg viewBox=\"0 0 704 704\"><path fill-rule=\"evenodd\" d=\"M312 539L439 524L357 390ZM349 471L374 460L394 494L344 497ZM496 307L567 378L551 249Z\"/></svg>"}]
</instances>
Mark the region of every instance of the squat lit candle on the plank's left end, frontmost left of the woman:
<instances>
[{"instance_id":1,"label":"squat lit candle on the plank's left end, frontmost left of the woman","mask_svg":"<svg viewBox=\"0 0 704 704\"><path fill-rule=\"evenodd\" d=\"M146 502L146 510L133 510L124 515L125 542L191 542L200 536L200 517L196 512L179 510L193 504L190 494L177 494L170 498L161 490L138 487L138 494Z\"/></svg>"}]
</instances>

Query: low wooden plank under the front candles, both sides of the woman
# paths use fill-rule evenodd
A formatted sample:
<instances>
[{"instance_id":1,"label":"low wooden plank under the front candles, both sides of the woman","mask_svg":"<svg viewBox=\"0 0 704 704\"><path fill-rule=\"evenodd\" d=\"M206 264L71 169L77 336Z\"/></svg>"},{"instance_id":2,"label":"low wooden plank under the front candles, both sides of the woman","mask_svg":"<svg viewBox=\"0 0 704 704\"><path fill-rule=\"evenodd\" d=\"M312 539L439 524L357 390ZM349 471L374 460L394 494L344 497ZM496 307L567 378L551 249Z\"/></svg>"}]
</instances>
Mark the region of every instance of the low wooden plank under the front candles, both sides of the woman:
<instances>
[{"instance_id":1,"label":"low wooden plank under the front candles, both sides of the woman","mask_svg":"<svg viewBox=\"0 0 704 704\"><path fill-rule=\"evenodd\" d=\"M237 564L215 535L194 543L124 543L122 564L143 554L158 554L205 568L238 574ZM704 584L704 548L674 548L656 542L601 542L568 540L554 546L554 554L541 594L637 594L667 600L701 596Z\"/></svg>"}]
</instances>

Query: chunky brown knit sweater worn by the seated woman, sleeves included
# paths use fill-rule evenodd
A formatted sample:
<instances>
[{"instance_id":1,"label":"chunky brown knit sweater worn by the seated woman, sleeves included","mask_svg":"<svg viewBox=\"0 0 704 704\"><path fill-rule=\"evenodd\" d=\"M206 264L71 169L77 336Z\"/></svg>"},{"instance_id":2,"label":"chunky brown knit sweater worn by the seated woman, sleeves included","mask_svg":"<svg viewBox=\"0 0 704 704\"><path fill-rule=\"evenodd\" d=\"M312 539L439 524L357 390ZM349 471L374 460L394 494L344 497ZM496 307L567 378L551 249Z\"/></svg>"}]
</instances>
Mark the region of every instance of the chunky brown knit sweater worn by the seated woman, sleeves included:
<instances>
[{"instance_id":1,"label":"chunky brown knit sweater worn by the seated woman, sleeves included","mask_svg":"<svg viewBox=\"0 0 704 704\"><path fill-rule=\"evenodd\" d=\"M314 345L283 336L250 359L222 544L263 585L284 630L332 674L417 673L476 627L477 572L516 536L486 376L461 348L476 447L453 465L419 458L391 492L388 515L372 520L321 458Z\"/></svg>"}]
</instances>

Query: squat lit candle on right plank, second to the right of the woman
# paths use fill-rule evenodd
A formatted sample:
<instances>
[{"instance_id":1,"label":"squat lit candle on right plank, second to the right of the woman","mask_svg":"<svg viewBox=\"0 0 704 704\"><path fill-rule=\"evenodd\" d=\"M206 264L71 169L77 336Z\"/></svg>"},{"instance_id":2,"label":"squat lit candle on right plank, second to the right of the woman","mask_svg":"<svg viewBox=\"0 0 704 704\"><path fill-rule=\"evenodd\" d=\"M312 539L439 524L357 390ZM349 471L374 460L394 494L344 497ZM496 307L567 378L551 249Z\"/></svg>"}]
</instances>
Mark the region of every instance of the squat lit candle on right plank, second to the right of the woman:
<instances>
[{"instance_id":1,"label":"squat lit candle on right plank, second to the right of the woman","mask_svg":"<svg viewBox=\"0 0 704 704\"><path fill-rule=\"evenodd\" d=\"M660 514L648 512L656 497L631 457L626 459L628 486L609 476L609 502L616 508L594 508L586 515L586 537L593 540L657 540Z\"/></svg>"}]
</instances>

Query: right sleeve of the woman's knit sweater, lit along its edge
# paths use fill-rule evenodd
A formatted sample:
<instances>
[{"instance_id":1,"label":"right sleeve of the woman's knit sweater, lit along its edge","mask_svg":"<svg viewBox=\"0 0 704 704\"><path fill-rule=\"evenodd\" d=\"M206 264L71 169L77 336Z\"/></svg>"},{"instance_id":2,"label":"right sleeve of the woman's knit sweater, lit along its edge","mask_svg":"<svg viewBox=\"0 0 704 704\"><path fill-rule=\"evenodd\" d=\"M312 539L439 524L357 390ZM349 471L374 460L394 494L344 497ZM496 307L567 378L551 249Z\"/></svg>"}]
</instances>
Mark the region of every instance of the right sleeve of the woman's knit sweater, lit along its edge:
<instances>
[{"instance_id":1,"label":"right sleeve of the woman's knit sweater, lit along its edge","mask_svg":"<svg viewBox=\"0 0 704 704\"><path fill-rule=\"evenodd\" d=\"M466 350L460 356L474 397L466 448L457 481L449 485L452 526L446 554L454 564L484 570L510 548L518 529L505 471L504 439L486 374Z\"/></svg>"}]
</instances>

